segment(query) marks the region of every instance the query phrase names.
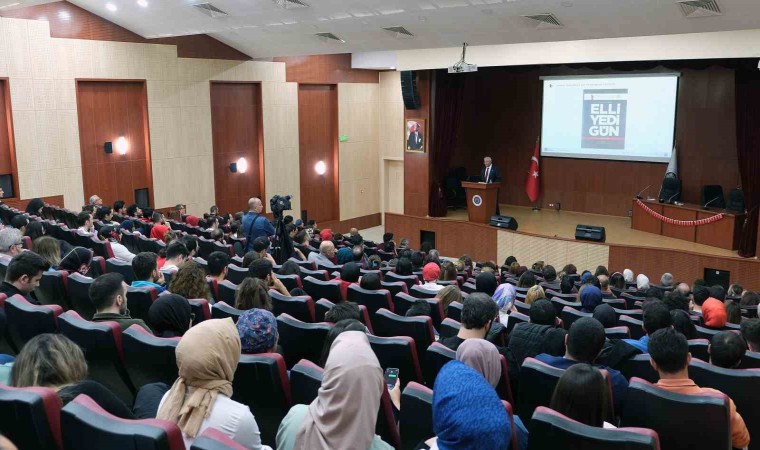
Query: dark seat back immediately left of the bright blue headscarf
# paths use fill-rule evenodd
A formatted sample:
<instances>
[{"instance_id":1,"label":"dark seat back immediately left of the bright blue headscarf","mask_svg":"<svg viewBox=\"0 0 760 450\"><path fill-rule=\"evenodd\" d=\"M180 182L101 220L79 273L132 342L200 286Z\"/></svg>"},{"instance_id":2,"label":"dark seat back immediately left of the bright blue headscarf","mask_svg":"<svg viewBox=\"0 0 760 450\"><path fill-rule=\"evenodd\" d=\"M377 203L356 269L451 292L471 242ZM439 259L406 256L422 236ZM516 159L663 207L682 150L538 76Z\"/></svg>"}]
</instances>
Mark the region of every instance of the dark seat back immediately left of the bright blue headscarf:
<instances>
[{"instance_id":1,"label":"dark seat back immediately left of the bright blue headscarf","mask_svg":"<svg viewBox=\"0 0 760 450\"><path fill-rule=\"evenodd\" d=\"M433 391L410 382L401 392L399 432L401 448L413 450L417 444L435 435L433 432Z\"/></svg>"}]
</instances>

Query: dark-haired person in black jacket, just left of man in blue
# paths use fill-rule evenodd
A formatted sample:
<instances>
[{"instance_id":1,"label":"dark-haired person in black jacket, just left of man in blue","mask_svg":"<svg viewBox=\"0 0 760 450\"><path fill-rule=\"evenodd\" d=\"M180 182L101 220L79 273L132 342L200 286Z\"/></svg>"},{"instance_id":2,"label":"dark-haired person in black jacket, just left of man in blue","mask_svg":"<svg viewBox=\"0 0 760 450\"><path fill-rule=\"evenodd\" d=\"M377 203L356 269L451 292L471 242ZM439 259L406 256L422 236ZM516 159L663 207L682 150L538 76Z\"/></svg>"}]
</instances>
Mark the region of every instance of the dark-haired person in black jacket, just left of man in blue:
<instances>
[{"instance_id":1,"label":"dark-haired person in black jacket, just left of man in blue","mask_svg":"<svg viewBox=\"0 0 760 450\"><path fill-rule=\"evenodd\" d=\"M567 332L556 327L557 316L549 300L536 300L530 307L530 322L518 323L509 335L509 350L518 368L525 358L542 353L552 356L565 354Z\"/></svg>"}]
</instances>

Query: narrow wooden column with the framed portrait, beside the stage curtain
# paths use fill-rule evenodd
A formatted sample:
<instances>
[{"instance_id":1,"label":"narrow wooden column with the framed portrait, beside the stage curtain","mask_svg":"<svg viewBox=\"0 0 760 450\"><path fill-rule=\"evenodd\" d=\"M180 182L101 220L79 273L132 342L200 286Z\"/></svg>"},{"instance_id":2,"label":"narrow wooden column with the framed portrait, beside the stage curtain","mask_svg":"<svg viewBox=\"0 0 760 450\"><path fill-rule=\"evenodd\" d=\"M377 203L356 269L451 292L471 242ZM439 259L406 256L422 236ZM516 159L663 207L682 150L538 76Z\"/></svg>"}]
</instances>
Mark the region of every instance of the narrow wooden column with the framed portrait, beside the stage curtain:
<instances>
[{"instance_id":1,"label":"narrow wooden column with the framed portrait, beside the stage curtain","mask_svg":"<svg viewBox=\"0 0 760 450\"><path fill-rule=\"evenodd\" d=\"M404 213L414 216L428 215L430 197L430 136L432 130L431 77L428 70L417 72L417 90L420 94L420 108L404 109L404 119L425 119L427 122L427 146L425 153L404 151ZM405 129L406 127L404 127ZM404 133L398 139L404 142ZM404 145L406 148L406 145Z\"/></svg>"}]
</instances>

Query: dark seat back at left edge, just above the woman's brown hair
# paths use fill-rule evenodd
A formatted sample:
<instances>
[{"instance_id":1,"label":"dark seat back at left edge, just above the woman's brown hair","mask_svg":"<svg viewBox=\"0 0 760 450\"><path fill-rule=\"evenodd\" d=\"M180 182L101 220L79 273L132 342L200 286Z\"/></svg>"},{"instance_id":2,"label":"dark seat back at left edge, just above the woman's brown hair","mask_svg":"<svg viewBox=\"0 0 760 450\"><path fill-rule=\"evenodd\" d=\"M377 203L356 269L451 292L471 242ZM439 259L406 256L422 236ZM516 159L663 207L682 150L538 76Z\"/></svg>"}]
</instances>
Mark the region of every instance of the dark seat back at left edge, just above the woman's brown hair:
<instances>
[{"instance_id":1,"label":"dark seat back at left edge, just above the woman's brown hair","mask_svg":"<svg viewBox=\"0 0 760 450\"><path fill-rule=\"evenodd\" d=\"M5 300L8 333L17 350L30 339L43 333L57 333L57 317L63 313L58 305L33 305L20 295Z\"/></svg>"}]
</instances>

